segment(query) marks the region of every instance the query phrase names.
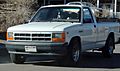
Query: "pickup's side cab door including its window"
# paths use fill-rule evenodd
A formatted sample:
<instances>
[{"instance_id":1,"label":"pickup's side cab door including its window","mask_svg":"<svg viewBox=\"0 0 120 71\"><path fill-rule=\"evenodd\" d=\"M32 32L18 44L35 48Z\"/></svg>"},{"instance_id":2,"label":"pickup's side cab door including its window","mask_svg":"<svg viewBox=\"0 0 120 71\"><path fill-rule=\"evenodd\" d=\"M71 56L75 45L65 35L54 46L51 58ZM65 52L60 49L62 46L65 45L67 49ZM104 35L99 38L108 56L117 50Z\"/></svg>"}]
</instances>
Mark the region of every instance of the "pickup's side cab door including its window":
<instances>
[{"instance_id":1,"label":"pickup's side cab door including its window","mask_svg":"<svg viewBox=\"0 0 120 71\"><path fill-rule=\"evenodd\" d=\"M94 23L94 19L92 13L88 7L83 8L83 25L82 25L83 33L82 36L82 44L83 49L92 49L96 47L96 27Z\"/></svg>"}]
</instances>

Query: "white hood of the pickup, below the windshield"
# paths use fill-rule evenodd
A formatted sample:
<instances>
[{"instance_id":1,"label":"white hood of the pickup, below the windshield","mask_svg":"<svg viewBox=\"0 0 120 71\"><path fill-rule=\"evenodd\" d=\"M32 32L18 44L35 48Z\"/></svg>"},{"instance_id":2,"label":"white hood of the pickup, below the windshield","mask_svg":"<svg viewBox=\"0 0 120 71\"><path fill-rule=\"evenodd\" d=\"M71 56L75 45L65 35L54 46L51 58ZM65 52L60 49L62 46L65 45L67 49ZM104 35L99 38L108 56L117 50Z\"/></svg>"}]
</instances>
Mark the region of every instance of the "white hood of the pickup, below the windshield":
<instances>
[{"instance_id":1,"label":"white hood of the pickup, below the windshield","mask_svg":"<svg viewBox=\"0 0 120 71\"><path fill-rule=\"evenodd\" d=\"M65 28L74 25L70 22L31 22L8 28L8 32L26 31L63 31Z\"/></svg>"}]
</instances>

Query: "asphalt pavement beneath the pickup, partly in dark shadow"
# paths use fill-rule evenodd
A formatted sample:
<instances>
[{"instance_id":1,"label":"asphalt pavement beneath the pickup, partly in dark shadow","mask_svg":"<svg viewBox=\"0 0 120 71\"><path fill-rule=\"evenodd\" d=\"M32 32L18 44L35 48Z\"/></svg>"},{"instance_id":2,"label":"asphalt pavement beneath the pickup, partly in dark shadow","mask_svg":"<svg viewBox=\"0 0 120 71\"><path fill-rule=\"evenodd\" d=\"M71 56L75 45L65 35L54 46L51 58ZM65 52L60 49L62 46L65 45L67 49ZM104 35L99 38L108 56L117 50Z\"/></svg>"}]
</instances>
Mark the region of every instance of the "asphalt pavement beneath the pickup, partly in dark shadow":
<instances>
[{"instance_id":1,"label":"asphalt pavement beneath the pickup, partly in dark shadow","mask_svg":"<svg viewBox=\"0 0 120 71\"><path fill-rule=\"evenodd\" d=\"M80 65L77 67L39 59L39 56L30 57L25 64L14 64L7 50L0 48L0 71L120 71L120 44L116 44L112 58L104 58L98 51L83 53Z\"/></svg>"}]
</instances>

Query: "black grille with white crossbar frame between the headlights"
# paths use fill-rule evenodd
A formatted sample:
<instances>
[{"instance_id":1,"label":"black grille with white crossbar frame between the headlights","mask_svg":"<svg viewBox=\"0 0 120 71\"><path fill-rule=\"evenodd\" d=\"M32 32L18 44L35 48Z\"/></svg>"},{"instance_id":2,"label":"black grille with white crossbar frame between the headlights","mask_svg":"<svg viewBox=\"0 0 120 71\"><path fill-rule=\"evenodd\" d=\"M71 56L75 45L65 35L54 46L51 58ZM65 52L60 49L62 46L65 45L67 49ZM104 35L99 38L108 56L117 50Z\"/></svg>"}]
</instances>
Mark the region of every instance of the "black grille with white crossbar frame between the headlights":
<instances>
[{"instance_id":1,"label":"black grille with white crossbar frame between the headlights","mask_svg":"<svg viewBox=\"0 0 120 71\"><path fill-rule=\"evenodd\" d=\"M14 40L16 41L51 41L52 35L50 33L14 33Z\"/></svg>"}]
</instances>

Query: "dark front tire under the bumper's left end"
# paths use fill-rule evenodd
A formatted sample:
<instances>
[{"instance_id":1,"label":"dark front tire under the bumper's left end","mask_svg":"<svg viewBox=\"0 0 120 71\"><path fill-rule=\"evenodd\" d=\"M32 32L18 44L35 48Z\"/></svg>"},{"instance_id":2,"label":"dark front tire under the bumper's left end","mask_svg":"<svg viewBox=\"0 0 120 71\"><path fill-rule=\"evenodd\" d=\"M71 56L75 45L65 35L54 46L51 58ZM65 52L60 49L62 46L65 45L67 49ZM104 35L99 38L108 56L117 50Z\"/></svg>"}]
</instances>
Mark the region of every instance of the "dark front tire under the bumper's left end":
<instances>
[{"instance_id":1,"label":"dark front tire under the bumper's left end","mask_svg":"<svg viewBox=\"0 0 120 71\"><path fill-rule=\"evenodd\" d=\"M10 54L11 61L15 64L23 64L25 62L24 55L20 54Z\"/></svg>"}]
</instances>

